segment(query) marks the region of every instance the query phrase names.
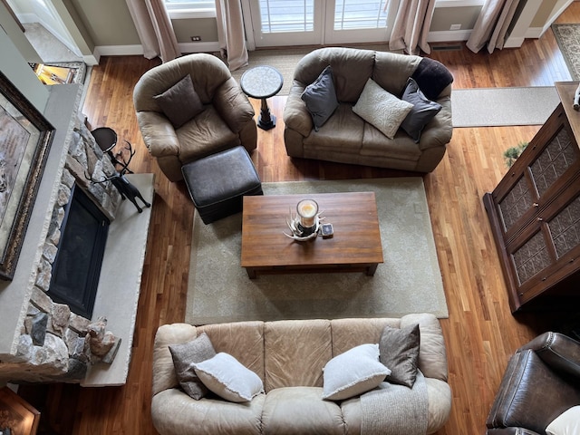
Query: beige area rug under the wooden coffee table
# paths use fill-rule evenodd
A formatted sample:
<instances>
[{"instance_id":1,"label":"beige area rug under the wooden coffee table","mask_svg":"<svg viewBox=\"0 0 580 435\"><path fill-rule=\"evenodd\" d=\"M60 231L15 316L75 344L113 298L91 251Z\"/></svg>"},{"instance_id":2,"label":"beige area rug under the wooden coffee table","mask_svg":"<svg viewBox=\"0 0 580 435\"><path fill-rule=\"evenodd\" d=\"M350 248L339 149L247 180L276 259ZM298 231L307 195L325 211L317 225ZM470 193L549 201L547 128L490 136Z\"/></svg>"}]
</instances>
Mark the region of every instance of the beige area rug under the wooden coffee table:
<instances>
[{"instance_id":1,"label":"beige area rug under the wooden coffee table","mask_svg":"<svg viewBox=\"0 0 580 435\"><path fill-rule=\"evenodd\" d=\"M240 266L241 213L210 225L196 213L186 322L449 315L422 179L295 181L263 183L263 188L265 195L374 191L384 263L374 276L259 275L251 280ZM281 216L280 237L284 230Z\"/></svg>"}]
</instances>

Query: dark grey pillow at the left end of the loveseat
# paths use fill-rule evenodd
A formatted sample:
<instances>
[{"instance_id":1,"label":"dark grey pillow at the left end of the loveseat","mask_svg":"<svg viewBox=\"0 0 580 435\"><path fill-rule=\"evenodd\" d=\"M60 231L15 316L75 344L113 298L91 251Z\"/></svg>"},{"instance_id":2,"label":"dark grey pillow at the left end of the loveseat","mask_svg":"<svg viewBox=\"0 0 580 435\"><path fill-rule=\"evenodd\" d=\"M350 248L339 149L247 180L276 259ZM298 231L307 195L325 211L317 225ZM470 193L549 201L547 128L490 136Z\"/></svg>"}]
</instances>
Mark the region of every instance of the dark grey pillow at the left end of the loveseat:
<instances>
[{"instance_id":1,"label":"dark grey pillow at the left end of the loveseat","mask_svg":"<svg viewBox=\"0 0 580 435\"><path fill-rule=\"evenodd\" d=\"M330 65L324 68L313 83L306 86L301 98L312 116L314 131L318 131L338 107Z\"/></svg>"}]
</instances>

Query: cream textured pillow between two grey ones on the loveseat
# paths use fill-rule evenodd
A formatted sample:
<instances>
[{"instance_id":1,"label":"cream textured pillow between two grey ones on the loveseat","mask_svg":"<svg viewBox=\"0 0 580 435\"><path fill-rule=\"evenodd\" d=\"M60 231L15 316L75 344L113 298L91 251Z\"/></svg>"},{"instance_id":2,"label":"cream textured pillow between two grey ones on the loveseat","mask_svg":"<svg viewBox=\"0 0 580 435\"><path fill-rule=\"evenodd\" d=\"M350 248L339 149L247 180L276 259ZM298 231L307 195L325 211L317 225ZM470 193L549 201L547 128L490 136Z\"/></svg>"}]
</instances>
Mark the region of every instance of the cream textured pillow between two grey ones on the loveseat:
<instances>
[{"instance_id":1,"label":"cream textured pillow between two grey ones on the loveseat","mask_svg":"<svg viewBox=\"0 0 580 435\"><path fill-rule=\"evenodd\" d=\"M410 102L403 102L369 79L353 106L353 112L392 139L412 108Z\"/></svg>"}]
</instances>

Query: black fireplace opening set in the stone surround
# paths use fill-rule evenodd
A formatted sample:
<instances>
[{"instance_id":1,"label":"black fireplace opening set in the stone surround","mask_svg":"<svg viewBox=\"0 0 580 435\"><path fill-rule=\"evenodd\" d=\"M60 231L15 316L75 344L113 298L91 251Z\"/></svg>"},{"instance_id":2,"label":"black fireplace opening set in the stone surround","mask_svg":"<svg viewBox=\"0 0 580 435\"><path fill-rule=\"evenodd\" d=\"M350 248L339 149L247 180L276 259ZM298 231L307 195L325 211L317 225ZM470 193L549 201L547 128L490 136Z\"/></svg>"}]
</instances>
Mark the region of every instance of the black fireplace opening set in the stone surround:
<instances>
[{"instance_id":1,"label":"black fireplace opening set in the stone surround","mask_svg":"<svg viewBox=\"0 0 580 435\"><path fill-rule=\"evenodd\" d=\"M92 318L110 221L77 186L64 214L48 295Z\"/></svg>"}]
</instances>

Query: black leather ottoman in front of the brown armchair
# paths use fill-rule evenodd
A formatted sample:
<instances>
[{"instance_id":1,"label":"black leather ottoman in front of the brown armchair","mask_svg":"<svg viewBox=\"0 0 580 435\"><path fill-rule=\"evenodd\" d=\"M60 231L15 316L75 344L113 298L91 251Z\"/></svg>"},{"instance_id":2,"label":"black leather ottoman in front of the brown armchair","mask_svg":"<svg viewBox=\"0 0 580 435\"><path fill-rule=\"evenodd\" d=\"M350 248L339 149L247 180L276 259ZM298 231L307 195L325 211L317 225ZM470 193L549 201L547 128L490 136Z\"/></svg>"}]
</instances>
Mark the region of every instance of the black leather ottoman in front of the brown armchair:
<instances>
[{"instance_id":1,"label":"black leather ottoman in front of the brown armchair","mask_svg":"<svg viewBox=\"0 0 580 435\"><path fill-rule=\"evenodd\" d=\"M242 197L263 193L254 163L241 146L192 161L181 172L204 224L242 211Z\"/></svg>"}]
</instances>

